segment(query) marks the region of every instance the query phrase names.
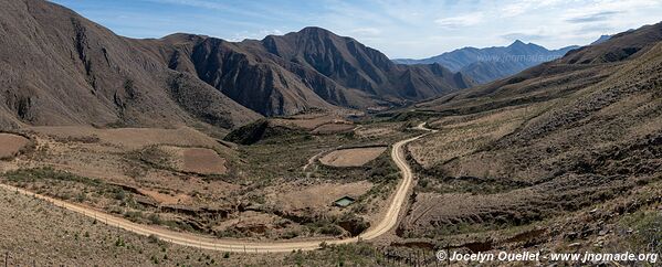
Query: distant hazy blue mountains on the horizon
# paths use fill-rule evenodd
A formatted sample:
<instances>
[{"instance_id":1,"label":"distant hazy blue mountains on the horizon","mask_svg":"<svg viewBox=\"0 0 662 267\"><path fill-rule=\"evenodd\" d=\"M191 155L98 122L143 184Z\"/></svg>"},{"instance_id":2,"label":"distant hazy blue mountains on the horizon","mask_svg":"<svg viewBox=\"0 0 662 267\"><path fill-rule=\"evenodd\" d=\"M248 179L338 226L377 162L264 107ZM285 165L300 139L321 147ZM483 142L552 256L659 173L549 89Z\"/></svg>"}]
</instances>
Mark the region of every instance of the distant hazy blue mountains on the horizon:
<instances>
[{"instance_id":1,"label":"distant hazy blue mountains on the horizon","mask_svg":"<svg viewBox=\"0 0 662 267\"><path fill-rule=\"evenodd\" d=\"M452 72L460 72L473 81L484 84L522 72L543 62L554 61L568 51L578 49L572 45L559 50L547 50L534 43L516 40L508 46L486 49L464 47L423 60L393 60L398 64L439 63Z\"/></svg>"}]
</instances>

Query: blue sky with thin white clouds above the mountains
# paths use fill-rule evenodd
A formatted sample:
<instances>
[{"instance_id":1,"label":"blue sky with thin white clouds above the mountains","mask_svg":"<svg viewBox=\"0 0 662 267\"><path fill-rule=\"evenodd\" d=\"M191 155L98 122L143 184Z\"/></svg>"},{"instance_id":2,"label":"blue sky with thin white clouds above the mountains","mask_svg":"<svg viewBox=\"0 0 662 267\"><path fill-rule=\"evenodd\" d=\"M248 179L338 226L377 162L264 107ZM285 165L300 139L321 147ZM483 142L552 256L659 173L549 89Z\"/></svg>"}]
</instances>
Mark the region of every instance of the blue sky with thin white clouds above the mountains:
<instances>
[{"instance_id":1,"label":"blue sky with thin white clouds above the mountains","mask_svg":"<svg viewBox=\"0 0 662 267\"><path fill-rule=\"evenodd\" d=\"M54 0L130 38L187 32L231 41L308 25L391 58L428 57L519 39L548 49L662 20L662 0Z\"/></svg>"}]
</instances>

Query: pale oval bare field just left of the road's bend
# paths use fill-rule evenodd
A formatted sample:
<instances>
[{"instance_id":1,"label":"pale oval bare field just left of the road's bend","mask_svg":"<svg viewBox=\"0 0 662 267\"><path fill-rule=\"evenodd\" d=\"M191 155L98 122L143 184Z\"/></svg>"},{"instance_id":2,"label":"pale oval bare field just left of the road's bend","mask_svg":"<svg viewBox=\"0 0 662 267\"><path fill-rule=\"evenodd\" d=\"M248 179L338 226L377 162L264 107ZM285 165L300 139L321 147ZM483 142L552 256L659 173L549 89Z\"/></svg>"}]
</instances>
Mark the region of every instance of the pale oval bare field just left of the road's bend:
<instances>
[{"instance_id":1,"label":"pale oval bare field just left of the road's bend","mask_svg":"<svg viewBox=\"0 0 662 267\"><path fill-rule=\"evenodd\" d=\"M377 159L386 149L386 147L340 149L325 154L319 161L333 167L359 167Z\"/></svg>"}]
</instances>

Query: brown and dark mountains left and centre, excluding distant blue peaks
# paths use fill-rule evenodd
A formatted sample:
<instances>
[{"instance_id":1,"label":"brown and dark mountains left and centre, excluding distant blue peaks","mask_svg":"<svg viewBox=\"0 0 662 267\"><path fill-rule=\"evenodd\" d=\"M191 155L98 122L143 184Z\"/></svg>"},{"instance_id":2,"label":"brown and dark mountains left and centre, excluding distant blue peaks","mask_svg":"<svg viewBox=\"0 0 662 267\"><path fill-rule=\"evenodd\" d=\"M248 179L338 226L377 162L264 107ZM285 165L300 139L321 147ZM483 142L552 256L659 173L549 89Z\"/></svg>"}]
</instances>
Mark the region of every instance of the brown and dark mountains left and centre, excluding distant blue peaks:
<instances>
[{"instance_id":1,"label":"brown and dark mountains left and centre, excluding distant blue peaks","mask_svg":"<svg viewBox=\"0 0 662 267\"><path fill-rule=\"evenodd\" d=\"M400 105L472 86L439 64L398 65L321 28L228 42L116 35L42 0L0 2L0 125L203 124Z\"/></svg>"}]
</instances>

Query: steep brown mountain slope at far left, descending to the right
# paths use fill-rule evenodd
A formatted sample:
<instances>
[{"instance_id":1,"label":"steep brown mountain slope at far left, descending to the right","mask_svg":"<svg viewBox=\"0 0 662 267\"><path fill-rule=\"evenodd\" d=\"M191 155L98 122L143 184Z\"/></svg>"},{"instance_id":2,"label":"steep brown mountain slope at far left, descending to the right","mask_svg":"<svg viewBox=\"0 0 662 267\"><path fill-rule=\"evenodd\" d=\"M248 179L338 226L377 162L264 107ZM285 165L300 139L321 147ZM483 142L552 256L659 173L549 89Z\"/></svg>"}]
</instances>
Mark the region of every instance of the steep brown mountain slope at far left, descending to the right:
<instances>
[{"instance_id":1,"label":"steep brown mountain slope at far left, descending to the right","mask_svg":"<svg viewBox=\"0 0 662 267\"><path fill-rule=\"evenodd\" d=\"M232 128L260 116L73 11L0 2L0 125Z\"/></svg>"}]
</instances>

